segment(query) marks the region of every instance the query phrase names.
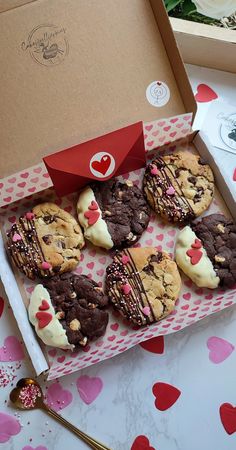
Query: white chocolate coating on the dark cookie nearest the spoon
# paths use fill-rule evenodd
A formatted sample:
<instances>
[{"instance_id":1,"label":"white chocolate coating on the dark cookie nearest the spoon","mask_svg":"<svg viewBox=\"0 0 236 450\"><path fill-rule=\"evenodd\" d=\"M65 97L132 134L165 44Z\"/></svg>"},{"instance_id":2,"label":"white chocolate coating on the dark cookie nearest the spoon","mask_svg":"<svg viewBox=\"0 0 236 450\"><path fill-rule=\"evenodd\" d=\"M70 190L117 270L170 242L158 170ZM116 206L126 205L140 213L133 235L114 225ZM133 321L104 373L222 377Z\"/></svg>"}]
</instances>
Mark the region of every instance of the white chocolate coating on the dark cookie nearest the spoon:
<instances>
[{"instance_id":1,"label":"white chocolate coating on the dark cookie nearest the spoon","mask_svg":"<svg viewBox=\"0 0 236 450\"><path fill-rule=\"evenodd\" d=\"M36 314L40 311L39 307L42 303L42 300L46 300L46 302L49 304L49 309L47 309L45 312L52 315L52 320L46 327L39 328ZM32 292L28 308L28 315L30 322L35 327L37 335L40 337L40 339L42 339L44 344L50 345L51 347L62 348L63 350L73 350L74 345L69 343L66 331L58 320L55 309L52 306L49 292L43 287L42 284L38 284Z\"/></svg>"}]
</instances>

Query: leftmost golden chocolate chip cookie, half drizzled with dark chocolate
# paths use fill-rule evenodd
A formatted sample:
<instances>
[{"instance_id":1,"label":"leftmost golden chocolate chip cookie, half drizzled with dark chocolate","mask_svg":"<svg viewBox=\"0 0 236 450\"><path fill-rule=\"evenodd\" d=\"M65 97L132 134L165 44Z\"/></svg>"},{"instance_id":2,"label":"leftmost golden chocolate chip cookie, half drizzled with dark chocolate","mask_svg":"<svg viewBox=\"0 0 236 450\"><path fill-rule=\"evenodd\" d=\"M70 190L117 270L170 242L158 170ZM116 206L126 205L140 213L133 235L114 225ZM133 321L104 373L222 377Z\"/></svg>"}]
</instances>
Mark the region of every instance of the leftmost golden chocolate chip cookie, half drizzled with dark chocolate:
<instances>
[{"instance_id":1,"label":"leftmost golden chocolate chip cookie, half drizzled with dark chocolate","mask_svg":"<svg viewBox=\"0 0 236 450\"><path fill-rule=\"evenodd\" d=\"M20 217L7 239L16 266L32 280L73 270L83 245L74 217L54 203L37 205Z\"/></svg>"}]
</instances>

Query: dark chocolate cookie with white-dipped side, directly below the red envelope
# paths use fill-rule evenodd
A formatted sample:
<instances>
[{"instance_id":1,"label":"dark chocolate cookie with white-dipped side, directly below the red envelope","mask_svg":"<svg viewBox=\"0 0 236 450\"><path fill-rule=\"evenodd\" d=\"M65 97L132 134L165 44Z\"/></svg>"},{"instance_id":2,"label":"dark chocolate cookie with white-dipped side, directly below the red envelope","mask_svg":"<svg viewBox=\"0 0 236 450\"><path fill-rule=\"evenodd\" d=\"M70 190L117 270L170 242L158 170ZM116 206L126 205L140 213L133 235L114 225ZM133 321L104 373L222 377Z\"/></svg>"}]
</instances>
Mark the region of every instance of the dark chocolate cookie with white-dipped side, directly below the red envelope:
<instances>
[{"instance_id":1,"label":"dark chocolate cookie with white-dipped side, directly below the red envelope","mask_svg":"<svg viewBox=\"0 0 236 450\"><path fill-rule=\"evenodd\" d=\"M147 228L150 208L132 182L95 183L80 194L79 222L94 245L110 249L133 245Z\"/></svg>"}]
</instances>

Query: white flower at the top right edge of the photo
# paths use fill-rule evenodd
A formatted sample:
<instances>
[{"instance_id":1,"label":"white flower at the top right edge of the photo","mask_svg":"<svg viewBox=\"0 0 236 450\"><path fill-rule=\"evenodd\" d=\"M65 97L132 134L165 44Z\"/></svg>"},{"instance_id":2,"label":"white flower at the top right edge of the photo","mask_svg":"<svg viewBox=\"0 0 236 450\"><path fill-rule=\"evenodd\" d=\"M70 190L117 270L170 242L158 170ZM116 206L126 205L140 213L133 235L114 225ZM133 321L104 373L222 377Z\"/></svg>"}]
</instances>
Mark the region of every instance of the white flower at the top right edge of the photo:
<instances>
[{"instance_id":1,"label":"white flower at the top right edge of the photo","mask_svg":"<svg viewBox=\"0 0 236 450\"><path fill-rule=\"evenodd\" d=\"M222 19L236 11L236 0L193 0L197 11L207 17Z\"/></svg>"}]
</instances>

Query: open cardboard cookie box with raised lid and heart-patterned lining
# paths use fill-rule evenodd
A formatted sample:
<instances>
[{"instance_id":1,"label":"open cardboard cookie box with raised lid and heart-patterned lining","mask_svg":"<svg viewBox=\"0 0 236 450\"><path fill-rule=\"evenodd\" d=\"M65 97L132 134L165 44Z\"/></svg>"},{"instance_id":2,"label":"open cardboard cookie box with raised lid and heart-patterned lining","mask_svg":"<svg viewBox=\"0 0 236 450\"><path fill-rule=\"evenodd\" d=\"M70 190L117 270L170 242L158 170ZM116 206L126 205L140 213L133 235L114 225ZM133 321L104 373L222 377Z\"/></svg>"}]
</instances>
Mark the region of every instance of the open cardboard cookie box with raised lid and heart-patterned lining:
<instances>
[{"instance_id":1,"label":"open cardboard cookie box with raised lid and heart-patterned lining","mask_svg":"<svg viewBox=\"0 0 236 450\"><path fill-rule=\"evenodd\" d=\"M199 289L183 277L166 319L137 329L110 309L103 338L80 352L44 347L27 316L34 283L11 265L4 246L22 213L50 200L76 217L81 186L119 175L141 187L145 159L176 148L204 155L215 172L224 201L216 194L207 214L229 214L226 204L234 214L235 204L204 136L191 134L196 103L162 2L35 0L15 6L0 13L0 275L36 373L48 371L53 379L190 326L232 305L235 290ZM108 155L114 164L101 177L92 162ZM173 256L177 233L177 226L153 214L136 245ZM87 244L82 254L76 273L102 286L110 253Z\"/></svg>"}]
</instances>

